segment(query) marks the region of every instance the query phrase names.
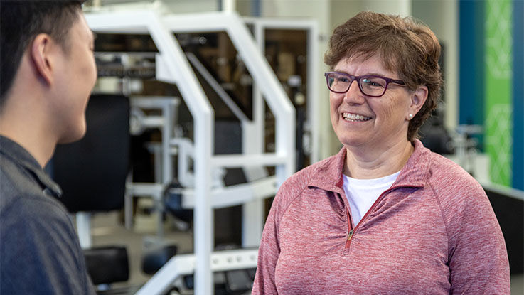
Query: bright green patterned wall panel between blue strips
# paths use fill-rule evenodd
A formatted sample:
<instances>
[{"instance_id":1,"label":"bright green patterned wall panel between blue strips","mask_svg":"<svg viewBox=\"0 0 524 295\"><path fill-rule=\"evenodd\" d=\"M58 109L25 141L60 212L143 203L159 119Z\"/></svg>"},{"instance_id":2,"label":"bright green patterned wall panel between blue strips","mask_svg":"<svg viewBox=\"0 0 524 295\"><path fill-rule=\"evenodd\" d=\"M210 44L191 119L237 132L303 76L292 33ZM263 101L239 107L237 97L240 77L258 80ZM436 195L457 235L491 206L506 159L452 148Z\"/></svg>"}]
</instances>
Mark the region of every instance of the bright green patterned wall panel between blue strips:
<instances>
[{"instance_id":1,"label":"bright green patterned wall panel between blue strips","mask_svg":"<svg viewBox=\"0 0 524 295\"><path fill-rule=\"evenodd\" d=\"M510 186L513 161L513 3L510 0L487 0L485 4L486 152L491 162L491 181Z\"/></svg>"}]
</instances>

